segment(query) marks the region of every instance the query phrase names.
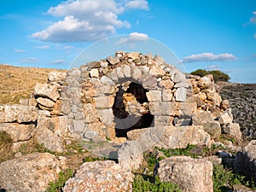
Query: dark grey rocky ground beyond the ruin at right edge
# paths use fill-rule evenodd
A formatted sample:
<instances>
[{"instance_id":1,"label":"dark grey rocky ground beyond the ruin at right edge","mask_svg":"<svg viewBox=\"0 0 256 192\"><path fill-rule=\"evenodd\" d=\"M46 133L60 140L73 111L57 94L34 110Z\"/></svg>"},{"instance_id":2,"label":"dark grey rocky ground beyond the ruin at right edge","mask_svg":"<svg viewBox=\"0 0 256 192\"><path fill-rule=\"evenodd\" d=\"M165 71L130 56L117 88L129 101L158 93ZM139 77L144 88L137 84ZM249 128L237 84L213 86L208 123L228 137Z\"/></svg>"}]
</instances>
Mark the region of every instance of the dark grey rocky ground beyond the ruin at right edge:
<instances>
[{"instance_id":1,"label":"dark grey rocky ground beyond the ruin at right edge","mask_svg":"<svg viewBox=\"0 0 256 192\"><path fill-rule=\"evenodd\" d=\"M256 84L218 83L220 95L230 101L234 121L243 136L256 138Z\"/></svg>"}]
</instances>

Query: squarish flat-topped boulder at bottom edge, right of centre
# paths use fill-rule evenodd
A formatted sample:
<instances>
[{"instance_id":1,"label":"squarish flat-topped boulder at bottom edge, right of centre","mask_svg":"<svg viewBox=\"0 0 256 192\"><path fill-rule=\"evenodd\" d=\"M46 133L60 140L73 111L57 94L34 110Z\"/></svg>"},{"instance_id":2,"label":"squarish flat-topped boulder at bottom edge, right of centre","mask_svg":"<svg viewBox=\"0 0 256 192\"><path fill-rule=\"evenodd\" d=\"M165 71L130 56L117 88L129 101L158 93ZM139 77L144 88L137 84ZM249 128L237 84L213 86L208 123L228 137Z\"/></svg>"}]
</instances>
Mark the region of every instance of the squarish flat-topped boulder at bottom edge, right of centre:
<instances>
[{"instance_id":1,"label":"squarish flat-topped boulder at bottom edge, right of centre","mask_svg":"<svg viewBox=\"0 0 256 192\"><path fill-rule=\"evenodd\" d=\"M161 182L177 183L184 192L211 192L212 163L187 156L160 160L157 175Z\"/></svg>"}]
</instances>

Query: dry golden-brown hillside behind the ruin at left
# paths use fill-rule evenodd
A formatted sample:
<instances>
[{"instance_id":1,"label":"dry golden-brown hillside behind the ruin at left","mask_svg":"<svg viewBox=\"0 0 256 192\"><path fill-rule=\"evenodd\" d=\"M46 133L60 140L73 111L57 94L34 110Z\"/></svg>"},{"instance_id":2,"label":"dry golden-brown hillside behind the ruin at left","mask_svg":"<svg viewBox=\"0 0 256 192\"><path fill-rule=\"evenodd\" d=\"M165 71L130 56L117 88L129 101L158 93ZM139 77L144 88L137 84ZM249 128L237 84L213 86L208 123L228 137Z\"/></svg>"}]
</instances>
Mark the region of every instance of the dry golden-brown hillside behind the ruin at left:
<instances>
[{"instance_id":1,"label":"dry golden-brown hillside behind the ruin at left","mask_svg":"<svg viewBox=\"0 0 256 192\"><path fill-rule=\"evenodd\" d=\"M0 64L0 104L19 103L20 98L28 98L36 83L47 82L51 71L63 70Z\"/></svg>"}]
</instances>

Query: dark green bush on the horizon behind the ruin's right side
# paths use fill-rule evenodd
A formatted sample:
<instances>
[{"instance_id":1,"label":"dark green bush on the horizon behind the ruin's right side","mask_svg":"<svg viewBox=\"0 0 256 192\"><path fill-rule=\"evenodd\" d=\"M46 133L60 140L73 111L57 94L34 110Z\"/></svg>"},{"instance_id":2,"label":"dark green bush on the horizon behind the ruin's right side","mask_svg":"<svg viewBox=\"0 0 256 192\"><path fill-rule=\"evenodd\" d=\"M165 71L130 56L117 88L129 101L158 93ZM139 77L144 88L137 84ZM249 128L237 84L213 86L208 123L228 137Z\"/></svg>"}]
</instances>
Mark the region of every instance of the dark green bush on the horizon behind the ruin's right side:
<instances>
[{"instance_id":1,"label":"dark green bush on the horizon behind the ruin's right side","mask_svg":"<svg viewBox=\"0 0 256 192\"><path fill-rule=\"evenodd\" d=\"M191 74L198 75L200 77L203 77L207 74L212 74L215 82L230 80L230 76L227 73L221 72L219 70L207 71L205 69L197 69L194 72L191 72Z\"/></svg>"}]
</instances>

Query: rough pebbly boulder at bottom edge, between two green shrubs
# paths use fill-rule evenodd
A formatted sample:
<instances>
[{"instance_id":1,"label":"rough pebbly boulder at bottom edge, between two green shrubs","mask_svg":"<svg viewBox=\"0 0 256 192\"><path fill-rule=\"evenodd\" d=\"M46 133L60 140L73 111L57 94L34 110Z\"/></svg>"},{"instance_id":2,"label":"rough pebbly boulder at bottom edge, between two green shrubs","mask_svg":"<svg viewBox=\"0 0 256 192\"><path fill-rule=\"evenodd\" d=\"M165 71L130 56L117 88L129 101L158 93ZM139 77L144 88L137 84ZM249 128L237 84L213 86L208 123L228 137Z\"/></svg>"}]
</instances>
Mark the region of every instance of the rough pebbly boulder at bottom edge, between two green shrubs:
<instances>
[{"instance_id":1,"label":"rough pebbly boulder at bottom edge, between two green shrubs","mask_svg":"<svg viewBox=\"0 0 256 192\"><path fill-rule=\"evenodd\" d=\"M112 160L86 162L67 180L63 191L132 191L133 177L131 171Z\"/></svg>"}]
</instances>

